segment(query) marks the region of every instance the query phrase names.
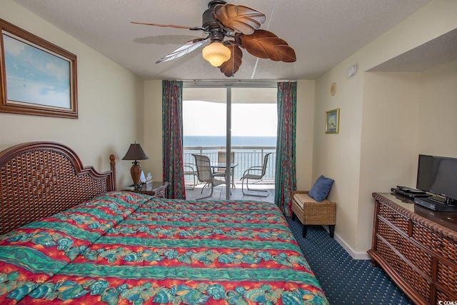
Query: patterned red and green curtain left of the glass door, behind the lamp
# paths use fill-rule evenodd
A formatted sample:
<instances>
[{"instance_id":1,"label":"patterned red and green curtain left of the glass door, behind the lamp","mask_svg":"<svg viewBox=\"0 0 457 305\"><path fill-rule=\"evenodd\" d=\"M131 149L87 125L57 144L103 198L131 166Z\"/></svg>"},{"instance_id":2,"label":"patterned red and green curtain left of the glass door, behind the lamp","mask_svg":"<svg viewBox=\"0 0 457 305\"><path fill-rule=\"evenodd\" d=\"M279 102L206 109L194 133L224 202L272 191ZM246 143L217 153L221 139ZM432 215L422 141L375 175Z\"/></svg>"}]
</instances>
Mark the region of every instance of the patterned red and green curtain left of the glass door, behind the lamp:
<instances>
[{"instance_id":1,"label":"patterned red and green curtain left of the glass door, behind the lamp","mask_svg":"<svg viewBox=\"0 0 457 305\"><path fill-rule=\"evenodd\" d=\"M168 197L186 199L183 169L183 82L162 81L163 181L169 181Z\"/></svg>"}]
</instances>

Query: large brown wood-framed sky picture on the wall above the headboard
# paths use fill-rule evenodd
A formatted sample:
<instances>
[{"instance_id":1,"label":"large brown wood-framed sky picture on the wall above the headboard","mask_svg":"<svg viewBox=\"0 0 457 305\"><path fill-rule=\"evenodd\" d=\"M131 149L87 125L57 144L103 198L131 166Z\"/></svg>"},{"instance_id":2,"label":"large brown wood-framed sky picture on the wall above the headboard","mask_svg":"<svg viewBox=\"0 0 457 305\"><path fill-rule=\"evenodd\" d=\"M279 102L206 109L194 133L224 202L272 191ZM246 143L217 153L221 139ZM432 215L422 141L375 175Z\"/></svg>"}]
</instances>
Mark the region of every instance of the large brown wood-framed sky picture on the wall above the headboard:
<instances>
[{"instance_id":1,"label":"large brown wood-framed sky picture on the wall above the headboard","mask_svg":"<svg viewBox=\"0 0 457 305\"><path fill-rule=\"evenodd\" d=\"M0 19L0 112L78 118L76 55Z\"/></svg>"}]
</instances>

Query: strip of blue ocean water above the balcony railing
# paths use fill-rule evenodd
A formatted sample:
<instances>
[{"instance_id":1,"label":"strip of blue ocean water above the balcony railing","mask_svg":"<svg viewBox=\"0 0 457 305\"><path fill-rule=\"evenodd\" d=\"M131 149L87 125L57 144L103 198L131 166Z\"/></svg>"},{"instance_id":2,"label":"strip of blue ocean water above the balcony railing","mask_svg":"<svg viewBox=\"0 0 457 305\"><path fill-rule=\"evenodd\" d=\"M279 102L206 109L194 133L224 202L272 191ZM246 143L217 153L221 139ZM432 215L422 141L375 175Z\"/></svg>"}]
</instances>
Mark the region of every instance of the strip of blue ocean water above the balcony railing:
<instances>
[{"instance_id":1,"label":"strip of blue ocean water above the balcony railing","mask_svg":"<svg viewBox=\"0 0 457 305\"><path fill-rule=\"evenodd\" d=\"M226 137L184 136L183 146L226 146ZM276 136L232 136L231 146L276 146Z\"/></svg>"}]
</instances>

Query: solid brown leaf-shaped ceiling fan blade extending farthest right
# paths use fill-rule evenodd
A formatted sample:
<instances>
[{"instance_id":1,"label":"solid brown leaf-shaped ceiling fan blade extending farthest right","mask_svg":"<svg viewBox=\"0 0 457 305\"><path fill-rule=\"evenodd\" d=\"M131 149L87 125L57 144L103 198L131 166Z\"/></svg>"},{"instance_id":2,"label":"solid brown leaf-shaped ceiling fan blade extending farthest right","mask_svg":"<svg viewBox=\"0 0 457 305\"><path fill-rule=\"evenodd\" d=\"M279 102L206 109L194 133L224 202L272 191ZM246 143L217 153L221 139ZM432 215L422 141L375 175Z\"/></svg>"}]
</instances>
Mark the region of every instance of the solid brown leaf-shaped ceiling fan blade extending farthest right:
<instances>
[{"instance_id":1,"label":"solid brown leaf-shaped ceiling fan blade extending farthest right","mask_svg":"<svg viewBox=\"0 0 457 305\"><path fill-rule=\"evenodd\" d=\"M253 56L273 61L296 61L296 54L291 46L271 31L257 30L251 35L242 35L240 40L241 47Z\"/></svg>"}]
</instances>

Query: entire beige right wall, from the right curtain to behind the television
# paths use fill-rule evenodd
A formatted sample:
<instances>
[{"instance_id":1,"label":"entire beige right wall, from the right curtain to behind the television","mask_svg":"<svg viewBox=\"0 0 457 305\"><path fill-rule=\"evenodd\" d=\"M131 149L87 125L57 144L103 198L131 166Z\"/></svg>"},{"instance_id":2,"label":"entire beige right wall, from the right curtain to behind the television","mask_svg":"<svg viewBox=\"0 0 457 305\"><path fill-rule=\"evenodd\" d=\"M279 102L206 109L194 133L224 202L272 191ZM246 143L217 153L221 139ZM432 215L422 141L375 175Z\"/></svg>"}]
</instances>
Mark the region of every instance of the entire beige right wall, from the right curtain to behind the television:
<instances>
[{"instance_id":1,"label":"entire beige right wall, from the right curtain to behind the television","mask_svg":"<svg viewBox=\"0 0 457 305\"><path fill-rule=\"evenodd\" d=\"M442 128L425 127L421 121L430 112L449 119L456 107L453 64L421 74L364 71L456 29L456 11L457 1L431 1L316 81L313 179L324 174L336 180L330 194L338 203L336 239L353 257L368 257L373 228L371 193L389 191L396 184L415 186L418 151L436 147L424 143L419 132L426 129L422 131L433 134L430 141L438 142L443 134ZM351 64L357 64L358 73L348 78ZM333 81L338 84L335 96L328 91ZM439 106L437 96L441 97ZM453 104L451 108L449 104ZM324 134L318 121L325 111L335 108L341 109L340 133ZM451 145L452 154L456 154L455 145ZM451 148L434 151L451 154Z\"/></svg>"}]
</instances>

